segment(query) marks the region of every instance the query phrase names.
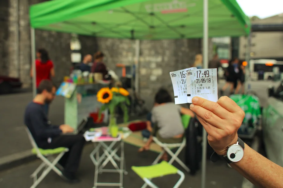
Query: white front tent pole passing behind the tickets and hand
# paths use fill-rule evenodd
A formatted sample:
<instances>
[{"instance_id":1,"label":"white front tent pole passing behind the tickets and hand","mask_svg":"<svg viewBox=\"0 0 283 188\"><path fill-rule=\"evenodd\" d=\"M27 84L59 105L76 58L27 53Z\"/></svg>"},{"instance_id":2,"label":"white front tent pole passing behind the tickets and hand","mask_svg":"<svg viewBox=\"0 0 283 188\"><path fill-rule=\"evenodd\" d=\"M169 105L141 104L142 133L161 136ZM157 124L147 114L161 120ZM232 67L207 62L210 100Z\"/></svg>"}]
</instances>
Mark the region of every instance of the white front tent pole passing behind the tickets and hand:
<instances>
[{"instance_id":1,"label":"white front tent pole passing behind the tickets and hand","mask_svg":"<svg viewBox=\"0 0 283 188\"><path fill-rule=\"evenodd\" d=\"M208 69L208 0L203 0L203 67ZM202 131L201 188L205 188L207 133Z\"/></svg>"}]
</instances>

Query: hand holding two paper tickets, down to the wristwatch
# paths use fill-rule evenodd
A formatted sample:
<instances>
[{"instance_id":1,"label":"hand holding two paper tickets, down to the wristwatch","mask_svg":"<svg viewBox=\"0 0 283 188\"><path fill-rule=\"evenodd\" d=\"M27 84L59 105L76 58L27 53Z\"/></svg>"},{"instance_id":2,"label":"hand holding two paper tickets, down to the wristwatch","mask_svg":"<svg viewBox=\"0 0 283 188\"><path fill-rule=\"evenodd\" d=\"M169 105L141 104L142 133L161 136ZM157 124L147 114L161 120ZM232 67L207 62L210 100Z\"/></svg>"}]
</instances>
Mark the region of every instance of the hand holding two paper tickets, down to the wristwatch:
<instances>
[{"instance_id":1,"label":"hand holding two paper tickets, down to the wristwatch","mask_svg":"<svg viewBox=\"0 0 283 188\"><path fill-rule=\"evenodd\" d=\"M194 97L190 109L196 113L198 120L208 133L209 145L218 155L225 155L227 147L237 143L237 131L245 112L227 96L217 102Z\"/></svg>"}]
</instances>

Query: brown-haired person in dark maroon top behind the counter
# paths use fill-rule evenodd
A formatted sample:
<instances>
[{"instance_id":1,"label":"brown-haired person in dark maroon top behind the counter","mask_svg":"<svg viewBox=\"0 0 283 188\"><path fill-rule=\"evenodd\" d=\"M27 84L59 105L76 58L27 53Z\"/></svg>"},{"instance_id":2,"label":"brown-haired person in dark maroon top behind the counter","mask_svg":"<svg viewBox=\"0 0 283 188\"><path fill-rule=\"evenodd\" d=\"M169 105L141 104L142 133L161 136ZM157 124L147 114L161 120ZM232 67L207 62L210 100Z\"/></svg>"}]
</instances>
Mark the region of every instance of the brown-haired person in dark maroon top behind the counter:
<instances>
[{"instance_id":1,"label":"brown-haired person in dark maroon top behind the counter","mask_svg":"<svg viewBox=\"0 0 283 188\"><path fill-rule=\"evenodd\" d=\"M102 73L103 80L105 80L106 75L108 74L107 68L103 62L104 54L102 52L96 52L94 54L94 62L91 68L91 72L93 73Z\"/></svg>"}]
</instances>

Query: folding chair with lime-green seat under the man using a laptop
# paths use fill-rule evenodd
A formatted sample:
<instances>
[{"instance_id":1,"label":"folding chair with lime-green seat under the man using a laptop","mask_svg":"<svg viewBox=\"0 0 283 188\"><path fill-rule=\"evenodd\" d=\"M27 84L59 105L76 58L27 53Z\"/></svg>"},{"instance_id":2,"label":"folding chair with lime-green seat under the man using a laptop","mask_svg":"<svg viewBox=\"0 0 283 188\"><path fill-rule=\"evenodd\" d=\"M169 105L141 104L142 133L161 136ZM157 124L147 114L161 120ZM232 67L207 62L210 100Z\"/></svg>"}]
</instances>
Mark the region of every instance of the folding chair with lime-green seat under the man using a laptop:
<instances>
[{"instance_id":1,"label":"folding chair with lime-green seat under the man using a laptop","mask_svg":"<svg viewBox=\"0 0 283 188\"><path fill-rule=\"evenodd\" d=\"M60 147L55 149L40 149L38 148L36 142L33 139L33 136L30 133L30 130L26 127L26 132L29 136L30 143L33 146L32 153L37 155L37 158L40 158L43 162L40 166L30 175L33 178L33 185L30 188L35 188L44 178L45 176L51 171L54 170L59 176L62 176L62 172L55 166L58 165L58 161L61 157L69 151L68 148ZM56 158L53 155L57 155ZM37 174L45 167L43 172L41 173L40 177L37 178Z\"/></svg>"}]
</instances>

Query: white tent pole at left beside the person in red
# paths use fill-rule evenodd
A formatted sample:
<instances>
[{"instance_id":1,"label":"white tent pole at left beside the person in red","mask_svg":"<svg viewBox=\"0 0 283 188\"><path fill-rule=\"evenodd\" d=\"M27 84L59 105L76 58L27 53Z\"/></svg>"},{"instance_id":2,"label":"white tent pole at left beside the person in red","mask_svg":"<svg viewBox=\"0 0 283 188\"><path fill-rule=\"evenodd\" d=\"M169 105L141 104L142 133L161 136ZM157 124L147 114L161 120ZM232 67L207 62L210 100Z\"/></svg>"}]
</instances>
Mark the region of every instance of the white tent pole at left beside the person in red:
<instances>
[{"instance_id":1,"label":"white tent pole at left beside the person in red","mask_svg":"<svg viewBox=\"0 0 283 188\"><path fill-rule=\"evenodd\" d=\"M30 28L30 42L31 42L31 66L33 69L33 98L36 96L36 66L35 66L35 33L34 29Z\"/></svg>"}]
</instances>

